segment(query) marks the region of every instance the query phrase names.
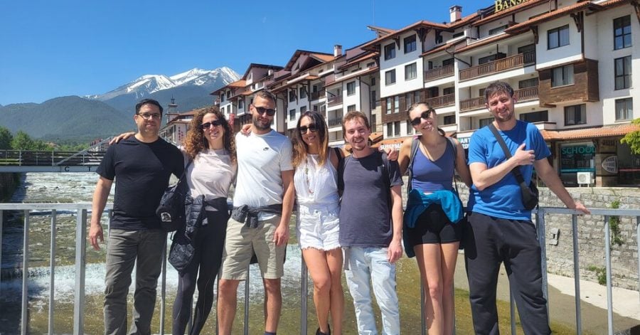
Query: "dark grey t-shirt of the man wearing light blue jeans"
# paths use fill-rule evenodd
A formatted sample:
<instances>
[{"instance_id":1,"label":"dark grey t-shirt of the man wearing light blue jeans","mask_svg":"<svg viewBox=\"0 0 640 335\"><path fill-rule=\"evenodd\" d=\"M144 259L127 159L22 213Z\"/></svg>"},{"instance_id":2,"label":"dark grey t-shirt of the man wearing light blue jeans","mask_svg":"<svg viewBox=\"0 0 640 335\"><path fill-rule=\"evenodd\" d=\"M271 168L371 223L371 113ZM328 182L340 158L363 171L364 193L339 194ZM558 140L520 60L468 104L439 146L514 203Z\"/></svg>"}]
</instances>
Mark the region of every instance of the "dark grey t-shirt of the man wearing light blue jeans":
<instances>
[{"instance_id":1,"label":"dark grey t-shirt of the man wearing light blue jeans","mask_svg":"<svg viewBox=\"0 0 640 335\"><path fill-rule=\"evenodd\" d=\"M342 173L340 245L387 248L393 238L391 187L402 185L398 161L374 151L366 157L349 156Z\"/></svg>"}]
</instances>

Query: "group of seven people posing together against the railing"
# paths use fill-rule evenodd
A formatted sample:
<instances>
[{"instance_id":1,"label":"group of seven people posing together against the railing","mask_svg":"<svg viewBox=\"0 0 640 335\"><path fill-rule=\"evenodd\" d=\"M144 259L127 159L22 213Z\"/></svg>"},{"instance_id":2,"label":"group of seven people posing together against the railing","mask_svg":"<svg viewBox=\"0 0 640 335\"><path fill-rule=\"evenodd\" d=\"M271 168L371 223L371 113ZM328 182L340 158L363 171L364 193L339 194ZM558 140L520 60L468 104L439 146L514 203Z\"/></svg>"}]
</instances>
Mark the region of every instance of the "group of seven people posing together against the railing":
<instances>
[{"instance_id":1,"label":"group of seven people posing together against the railing","mask_svg":"<svg viewBox=\"0 0 640 335\"><path fill-rule=\"evenodd\" d=\"M511 171L520 169L528 183L535 166L568 208L589 211L562 186L548 163L550 151L538 129L515 118L513 89L492 83L485 95L510 157L484 127L471 137L467 161L462 145L444 136L436 112L424 102L407 110L419 136L403 142L399 152L370 147L371 127L362 112L343 117L350 151L329 147L324 117L314 111L299 117L289 140L271 128L276 98L267 90L256 93L249 107L252 122L243 132L234 137L218 108L208 107L194 115L178 149L158 136L161 105L142 100L134 115L138 132L112 145L97 170L100 178L89 233L96 249L103 239L100 216L113 181L116 184L107 248L105 334L150 334L166 242L154 212L169 176L180 177L183 172L191 194L204 195L207 206L193 241L194 260L179 273L173 334L184 334L189 319L193 319L189 334L200 333L213 305L216 277L218 332L230 334L238 285L254 255L265 287L265 335L276 334L294 200L297 238L314 282L316 335L342 333L343 272L358 334L378 334L373 296L382 333L400 334L395 262L402 256L403 242L420 268L430 334L454 331L452 289L461 242L476 334L498 334L496 285L502 262L525 334L550 334L540 245ZM409 187L403 213L405 172ZM457 194L456 172L470 190L466 215ZM229 213L219 204L226 203L220 199L228 197L234 182ZM134 315L127 333L127 292L134 263ZM192 312L196 287L198 301Z\"/></svg>"}]
</instances>

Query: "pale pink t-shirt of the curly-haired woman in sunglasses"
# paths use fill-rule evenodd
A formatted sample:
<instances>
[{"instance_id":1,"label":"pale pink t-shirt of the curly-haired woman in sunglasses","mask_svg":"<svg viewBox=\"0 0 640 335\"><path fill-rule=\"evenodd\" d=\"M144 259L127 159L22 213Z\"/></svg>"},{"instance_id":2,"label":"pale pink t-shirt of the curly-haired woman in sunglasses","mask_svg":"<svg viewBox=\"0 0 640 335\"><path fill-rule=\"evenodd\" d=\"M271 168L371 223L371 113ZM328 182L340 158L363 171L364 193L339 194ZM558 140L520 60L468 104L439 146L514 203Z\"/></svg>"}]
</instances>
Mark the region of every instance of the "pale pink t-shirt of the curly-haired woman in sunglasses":
<instances>
[{"instance_id":1,"label":"pale pink t-shirt of the curly-haired woman in sunglasses","mask_svg":"<svg viewBox=\"0 0 640 335\"><path fill-rule=\"evenodd\" d=\"M188 157L185 158L188 163ZM225 149L203 149L186 171L187 185L194 198L204 194L205 200L226 198L235 176L236 166Z\"/></svg>"}]
</instances>

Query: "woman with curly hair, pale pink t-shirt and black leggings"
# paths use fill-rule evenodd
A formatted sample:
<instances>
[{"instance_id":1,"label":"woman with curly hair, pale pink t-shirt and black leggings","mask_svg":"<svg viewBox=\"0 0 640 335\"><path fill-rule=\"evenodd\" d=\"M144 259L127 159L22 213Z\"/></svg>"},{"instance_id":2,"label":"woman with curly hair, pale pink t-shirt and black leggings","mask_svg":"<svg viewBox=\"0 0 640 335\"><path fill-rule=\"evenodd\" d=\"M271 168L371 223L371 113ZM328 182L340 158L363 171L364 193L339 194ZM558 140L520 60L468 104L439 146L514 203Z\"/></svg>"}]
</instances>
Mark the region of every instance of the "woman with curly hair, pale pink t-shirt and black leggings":
<instances>
[{"instance_id":1,"label":"woman with curly hair, pale pink t-shirt and black leggings","mask_svg":"<svg viewBox=\"0 0 640 335\"><path fill-rule=\"evenodd\" d=\"M121 134L114 142L134 133ZM200 334L213 306L213 284L222 262L229 211L229 188L238 169L233 129L218 107L207 107L193 115L180 147L188 164L185 179L193 198L204 195L206 216L192 244L193 260L178 273L178 292L174 302L174 335L184 334L191 318L193 292L198 287L198 301L193 313L190 335ZM178 232L179 233L179 232ZM198 271L200 275L198 275Z\"/></svg>"}]
</instances>

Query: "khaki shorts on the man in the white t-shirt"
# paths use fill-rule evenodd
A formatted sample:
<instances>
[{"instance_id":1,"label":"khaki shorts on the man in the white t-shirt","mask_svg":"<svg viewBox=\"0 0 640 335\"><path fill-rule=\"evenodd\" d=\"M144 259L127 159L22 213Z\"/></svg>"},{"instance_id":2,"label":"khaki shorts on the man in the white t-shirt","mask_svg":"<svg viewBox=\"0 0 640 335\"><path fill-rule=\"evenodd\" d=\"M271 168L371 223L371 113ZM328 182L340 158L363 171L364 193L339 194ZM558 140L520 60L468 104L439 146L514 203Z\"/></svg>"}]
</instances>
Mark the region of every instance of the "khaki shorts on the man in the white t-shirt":
<instances>
[{"instance_id":1,"label":"khaki shorts on the man in the white t-shirt","mask_svg":"<svg viewBox=\"0 0 640 335\"><path fill-rule=\"evenodd\" d=\"M247 228L233 218L227 223L227 236L223 252L220 278L246 280L247 267L255 252L260 273L265 279L279 279L284 275L284 250L287 245L277 247L273 235L280 223L280 216L262 220L257 228Z\"/></svg>"}]
</instances>

